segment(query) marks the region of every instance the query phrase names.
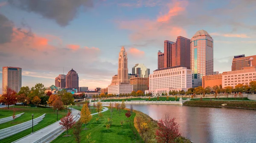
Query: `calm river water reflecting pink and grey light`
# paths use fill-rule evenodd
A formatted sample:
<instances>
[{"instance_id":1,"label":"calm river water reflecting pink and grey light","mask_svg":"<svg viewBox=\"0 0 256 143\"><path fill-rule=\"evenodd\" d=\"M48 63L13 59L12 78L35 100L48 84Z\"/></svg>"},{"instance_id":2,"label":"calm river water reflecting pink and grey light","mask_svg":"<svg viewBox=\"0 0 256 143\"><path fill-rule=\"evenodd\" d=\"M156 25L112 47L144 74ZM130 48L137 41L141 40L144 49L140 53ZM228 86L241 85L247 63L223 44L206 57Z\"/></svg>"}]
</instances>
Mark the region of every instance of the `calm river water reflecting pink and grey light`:
<instances>
[{"instance_id":1,"label":"calm river water reflecting pink and grey light","mask_svg":"<svg viewBox=\"0 0 256 143\"><path fill-rule=\"evenodd\" d=\"M169 112L182 136L194 143L256 143L256 110L157 104L133 107L154 120Z\"/></svg>"}]
</instances>

